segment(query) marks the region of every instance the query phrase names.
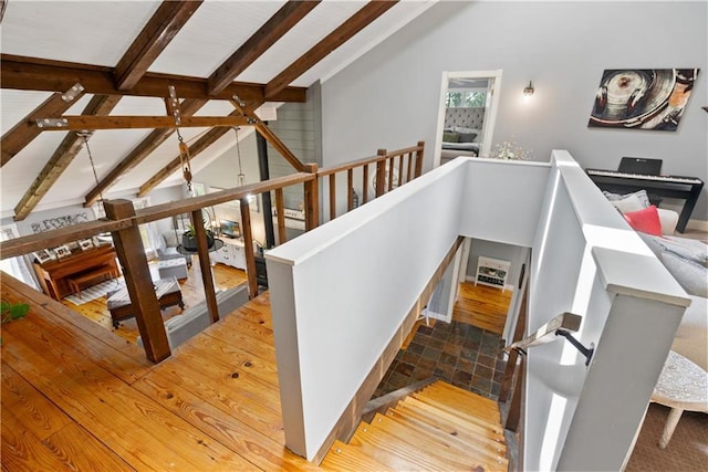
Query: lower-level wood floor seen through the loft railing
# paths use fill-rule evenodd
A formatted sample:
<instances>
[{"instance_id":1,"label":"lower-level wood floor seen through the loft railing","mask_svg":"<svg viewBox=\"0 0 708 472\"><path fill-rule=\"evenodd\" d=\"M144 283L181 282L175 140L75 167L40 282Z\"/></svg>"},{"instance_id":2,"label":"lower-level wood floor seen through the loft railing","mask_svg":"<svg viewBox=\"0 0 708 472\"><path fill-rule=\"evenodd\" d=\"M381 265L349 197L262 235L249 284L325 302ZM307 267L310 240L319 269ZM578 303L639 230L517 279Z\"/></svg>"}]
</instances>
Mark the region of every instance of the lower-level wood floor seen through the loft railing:
<instances>
[{"instance_id":1,"label":"lower-level wood floor seen through the loft railing","mask_svg":"<svg viewBox=\"0 0 708 472\"><path fill-rule=\"evenodd\" d=\"M233 269L228 265L215 264L211 266L211 273L217 290L227 290L247 282L244 271ZM191 264L191 268L189 268L188 274L189 276L186 280L179 281L183 301L185 302L185 310L194 306L205 298L201 270L199 269L199 260L197 256L194 258L194 263ZM131 343L135 343L139 335L135 318L125 319L121 322L117 329L113 328L111 313L108 313L108 308L106 307L105 296L84 303L83 305L74 305L66 300L62 301L62 303L69 308L97 323L100 326L113 331L117 336L121 336ZM167 321L173 316L179 316L181 312L181 308L178 306L165 308L163 310L163 319Z\"/></svg>"}]
</instances>

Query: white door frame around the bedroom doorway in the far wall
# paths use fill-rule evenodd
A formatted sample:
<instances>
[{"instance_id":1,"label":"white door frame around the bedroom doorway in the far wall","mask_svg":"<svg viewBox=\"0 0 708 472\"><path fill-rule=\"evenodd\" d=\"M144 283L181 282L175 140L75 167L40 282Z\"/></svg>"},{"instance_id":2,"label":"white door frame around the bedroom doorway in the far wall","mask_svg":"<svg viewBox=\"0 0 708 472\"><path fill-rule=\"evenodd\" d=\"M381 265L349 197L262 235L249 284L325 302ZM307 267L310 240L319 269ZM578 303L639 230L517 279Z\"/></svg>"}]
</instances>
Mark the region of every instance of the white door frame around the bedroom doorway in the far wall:
<instances>
[{"instance_id":1,"label":"white door frame around the bedroom doorway in the far wall","mask_svg":"<svg viewBox=\"0 0 708 472\"><path fill-rule=\"evenodd\" d=\"M501 91L501 73L502 70L496 71L442 71L442 78L440 81L440 101L438 107L438 127L435 135L435 154L433 156L433 167L440 165L440 154L442 150L442 129L445 128L445 95L447 93L450 78L488 78L489 86L487 87L487 101L485 107L485 125L482 136L485 140L480 155L489 155L491 150L492 135L494 129L494 123L497 122L497 111L499 109L499 96Z\"/></svg>"}]
</instances>

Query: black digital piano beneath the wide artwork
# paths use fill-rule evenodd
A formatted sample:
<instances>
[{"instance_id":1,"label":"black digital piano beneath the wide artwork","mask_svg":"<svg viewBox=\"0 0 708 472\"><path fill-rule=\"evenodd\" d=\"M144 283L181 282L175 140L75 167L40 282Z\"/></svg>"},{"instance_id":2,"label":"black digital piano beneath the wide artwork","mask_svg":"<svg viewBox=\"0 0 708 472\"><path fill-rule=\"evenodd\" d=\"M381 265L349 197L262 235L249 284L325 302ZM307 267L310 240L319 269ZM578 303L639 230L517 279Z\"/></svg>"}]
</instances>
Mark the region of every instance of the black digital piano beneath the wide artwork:
<instances>
[{"instance_id":1,"label":"black digital piano beneath the wide artwork","mask_svg":"<svg viewBox=\"0 0 708 472\"><path fill-rule=\"evenodd\" d=\"M704 181L698 177L652 176L602 169L585 169L585 172L601 190L627 193L644 189L649 196L649 200L653 197L684 200L684 208L678 216L678 224L676 224L676 230L680 233L686 231L690 213L694 211L704 188Z\"/></svg>"}]
</instances>

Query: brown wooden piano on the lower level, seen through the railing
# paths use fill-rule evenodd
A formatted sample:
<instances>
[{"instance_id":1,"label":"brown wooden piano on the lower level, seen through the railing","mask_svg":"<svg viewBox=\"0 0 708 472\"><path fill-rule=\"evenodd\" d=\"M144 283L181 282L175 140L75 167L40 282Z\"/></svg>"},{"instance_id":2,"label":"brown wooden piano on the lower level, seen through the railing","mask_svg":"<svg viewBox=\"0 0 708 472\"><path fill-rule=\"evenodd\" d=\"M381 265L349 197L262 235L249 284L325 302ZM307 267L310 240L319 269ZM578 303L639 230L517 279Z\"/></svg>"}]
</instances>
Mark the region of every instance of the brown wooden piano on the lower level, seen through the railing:
<instances>
[{"instance_id":1,"label":"brown wooden piano on the lower level, seen through the railing","mask_svg":"<svg viewBox=\"0 0 708 472\"><path fill-rule=\"evenodd\" d=\"M76 249L71 255L48 261L43 264L34 262L34 272L44 293L56 301L74 292L70 281L81 274L88 274L98 268L110 269L106 273L118 276L115 249L104 244L86 250Z\"/></svg>"}]
</instances>

